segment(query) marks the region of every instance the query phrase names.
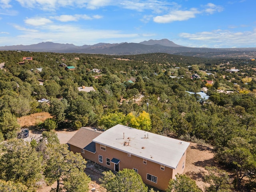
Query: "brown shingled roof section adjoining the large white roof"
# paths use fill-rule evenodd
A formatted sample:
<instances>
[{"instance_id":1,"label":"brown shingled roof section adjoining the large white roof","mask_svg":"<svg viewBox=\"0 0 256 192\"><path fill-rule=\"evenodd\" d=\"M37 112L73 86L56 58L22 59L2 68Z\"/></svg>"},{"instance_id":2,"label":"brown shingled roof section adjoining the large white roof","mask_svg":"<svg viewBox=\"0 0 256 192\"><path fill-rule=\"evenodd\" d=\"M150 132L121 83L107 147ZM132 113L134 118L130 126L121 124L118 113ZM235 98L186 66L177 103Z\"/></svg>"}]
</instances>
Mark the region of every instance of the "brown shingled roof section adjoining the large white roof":
<instances>
[{"instance_id":1,"label":"brown shingled roof section adjoining the large white roof","mask_svg":"<svg viewBox=\"0 0 256 192\"><path fill-rule=\"evenodd\" d=\"M94 138L99 136L102 132L95 131L93 128L80 128L76 134L68 141L68 144L79 147L85 148L88 146Z\"/></svg>"}]
</instances>

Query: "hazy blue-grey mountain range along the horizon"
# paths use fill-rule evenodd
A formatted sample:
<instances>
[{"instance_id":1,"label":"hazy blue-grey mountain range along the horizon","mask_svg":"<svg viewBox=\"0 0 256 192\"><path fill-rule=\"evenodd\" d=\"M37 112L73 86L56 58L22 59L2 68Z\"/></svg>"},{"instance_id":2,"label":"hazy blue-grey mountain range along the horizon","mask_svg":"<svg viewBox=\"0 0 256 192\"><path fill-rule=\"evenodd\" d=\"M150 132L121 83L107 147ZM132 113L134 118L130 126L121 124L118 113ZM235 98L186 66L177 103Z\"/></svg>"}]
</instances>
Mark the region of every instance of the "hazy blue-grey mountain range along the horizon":
<instances>
[{"instance_id":1,"label":"hazy blue-grey mountain range along the horizon","mask_svg":"<svg viewBox=\"0 0 256 192\"><path fill-rule=\"evenodd\" d=\"M88 53L130 55L146 53L182 54L198 57L253 57L256 48L194 48L175 44L168 39L148 40L140 43L98 43L94 45L76 46L74 44L60 44L53 42L41 42L32 45L0 46L0 50L20 50L33 52L58 52L58 53Z\"/></svg>"}]
</instances>

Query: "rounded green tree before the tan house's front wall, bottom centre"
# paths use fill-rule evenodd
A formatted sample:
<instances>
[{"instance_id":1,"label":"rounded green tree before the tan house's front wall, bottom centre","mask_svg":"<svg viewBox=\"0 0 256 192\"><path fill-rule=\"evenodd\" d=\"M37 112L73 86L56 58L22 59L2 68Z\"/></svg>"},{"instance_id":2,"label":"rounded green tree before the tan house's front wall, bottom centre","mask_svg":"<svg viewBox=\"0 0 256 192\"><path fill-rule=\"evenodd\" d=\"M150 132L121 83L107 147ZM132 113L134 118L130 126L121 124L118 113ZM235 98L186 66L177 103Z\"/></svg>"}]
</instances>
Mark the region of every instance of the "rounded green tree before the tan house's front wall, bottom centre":
<instances>
[{"instance_id":1,"label":"rounded green tree before the tan house's front wall, bottom centre","mask_svg":"<svg viewBox=\"0 0 256 192\"><path fill-rule=\"evenodd\" d=\"M100 179L102 186L108 192L147 192L148 187L143 183L142 178L134 170L123 169L116 175L113 172L103 172Z\"/></svg>"}]
</instances>

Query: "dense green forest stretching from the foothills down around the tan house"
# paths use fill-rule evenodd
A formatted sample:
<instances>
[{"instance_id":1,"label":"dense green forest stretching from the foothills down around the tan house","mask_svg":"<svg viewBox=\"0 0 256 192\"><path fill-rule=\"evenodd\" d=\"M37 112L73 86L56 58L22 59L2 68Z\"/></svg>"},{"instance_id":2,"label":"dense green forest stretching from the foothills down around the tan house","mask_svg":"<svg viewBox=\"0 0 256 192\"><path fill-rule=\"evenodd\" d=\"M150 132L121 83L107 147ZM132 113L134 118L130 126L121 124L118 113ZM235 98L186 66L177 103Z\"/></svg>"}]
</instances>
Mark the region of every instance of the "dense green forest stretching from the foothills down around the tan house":
<instances>
[{"instance_id":1,"label":"dense green forest stretching from the foothills down around the tan house","mask_svg":"<svg viewBox=\"0 0 256 192\"><path fill-rule=\"evenodd\" d=\"M23 61L23 57L33 59ZM163 53L112 56L0 51L2 62L0 188L10 185L13 191L33 191L44 180L64 182L65 191L83 191L84 186L74 178L90 180L80 172L85 160L70 154L51 130L81 126L106 130L124 124L212 145L216 160L233 175L225 190L208 191L256 190L256 61ZM79 91L82 86L95 91ZM186 91L204 91L209 98ZM42 98L50 102L38 102ZM31 144L16 139L21 129L17 118L37 112L52 116L38 124L47 130L44 137ZM58 164L53 161L60 156ZM36 171L30 175L25 168ZM62 172L53 172L54 168Z\"/></svg>"}]
</instances>

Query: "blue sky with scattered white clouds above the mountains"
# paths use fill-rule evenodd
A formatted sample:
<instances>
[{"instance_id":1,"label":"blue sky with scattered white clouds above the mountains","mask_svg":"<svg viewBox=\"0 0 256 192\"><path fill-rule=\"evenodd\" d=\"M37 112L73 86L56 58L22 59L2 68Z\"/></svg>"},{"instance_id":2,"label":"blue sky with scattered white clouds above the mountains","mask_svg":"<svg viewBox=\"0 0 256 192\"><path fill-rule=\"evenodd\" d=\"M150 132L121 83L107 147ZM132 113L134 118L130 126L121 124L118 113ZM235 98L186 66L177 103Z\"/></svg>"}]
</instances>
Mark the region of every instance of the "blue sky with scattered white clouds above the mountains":
<instances>
[{"instance_id":1,"label":"blue sky with scattered white clouds above the mountains","mask_svg":"<svg viewBox=\"0 0 256 192\"><path fill-rule=\"evenodd\" d=\"M0 46L169 39L256 47L255 0L0 0Z\"/></svg>"}]
</instances>

